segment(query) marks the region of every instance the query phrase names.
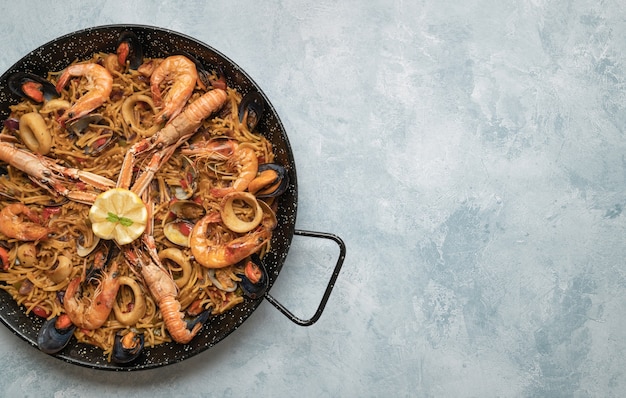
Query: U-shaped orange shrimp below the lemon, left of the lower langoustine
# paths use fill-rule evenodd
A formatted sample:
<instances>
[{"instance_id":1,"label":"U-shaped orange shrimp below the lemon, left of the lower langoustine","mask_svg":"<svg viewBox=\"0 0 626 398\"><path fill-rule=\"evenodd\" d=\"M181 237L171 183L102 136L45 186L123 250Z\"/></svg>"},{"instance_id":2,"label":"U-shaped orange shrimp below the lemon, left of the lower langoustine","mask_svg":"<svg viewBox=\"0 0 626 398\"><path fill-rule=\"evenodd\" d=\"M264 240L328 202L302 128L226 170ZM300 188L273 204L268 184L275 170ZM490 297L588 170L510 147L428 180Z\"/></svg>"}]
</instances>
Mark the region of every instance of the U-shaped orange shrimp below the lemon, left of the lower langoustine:
<instances>
[{"instance_id":1,"label":"U-shaped orange shrimp below the lemon, left of the lower langoustine","mask_svg":"<svg viewBox=\"0 0 626 398\"><path fill-rule=\"evenodd\" d=\"M98 329L109 317L119 288L120 281L116 261L111 264L109 272L102 273L100 284L91 299L76 297L81 293L81 277L78 276L70 282L65 291L65 298L63 299L65 312L72 323L79 328Z\"/></svg>"}]
</instances>

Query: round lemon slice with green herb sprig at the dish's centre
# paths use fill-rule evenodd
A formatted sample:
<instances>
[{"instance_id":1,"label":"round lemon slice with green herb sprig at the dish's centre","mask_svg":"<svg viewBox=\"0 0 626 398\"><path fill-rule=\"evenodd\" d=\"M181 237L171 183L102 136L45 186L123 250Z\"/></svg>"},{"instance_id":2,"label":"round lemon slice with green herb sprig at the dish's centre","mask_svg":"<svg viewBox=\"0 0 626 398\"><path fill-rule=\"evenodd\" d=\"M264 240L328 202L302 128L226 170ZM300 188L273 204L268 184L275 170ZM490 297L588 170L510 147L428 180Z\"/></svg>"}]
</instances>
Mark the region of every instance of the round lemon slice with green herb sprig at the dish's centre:
<instances>
[{"instance_id":1,"label":"round lemon slice with green herb sprig at the dish's centre","mask_svg":"<svg viewBox=\"0 0 626 398\"><path fill-rule=\"evenodd\" d=\"M89 209L89 220L96 236L126 245L146 229L148 210L134 192L113 188L96 197Z\"/></svg>"}]
</instances>

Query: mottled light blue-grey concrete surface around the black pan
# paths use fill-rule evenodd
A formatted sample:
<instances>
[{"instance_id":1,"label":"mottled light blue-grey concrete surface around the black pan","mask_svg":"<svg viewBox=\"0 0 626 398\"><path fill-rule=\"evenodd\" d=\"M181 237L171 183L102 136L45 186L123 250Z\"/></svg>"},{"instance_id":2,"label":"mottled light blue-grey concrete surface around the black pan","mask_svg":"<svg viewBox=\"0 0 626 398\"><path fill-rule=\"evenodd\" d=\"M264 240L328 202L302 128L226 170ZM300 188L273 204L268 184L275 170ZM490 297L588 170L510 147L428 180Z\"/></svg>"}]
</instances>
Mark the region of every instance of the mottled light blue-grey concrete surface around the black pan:
<instances>
[{"instance_id":1,"label":"mottled light blue-grey concrete surface around the black pan","mask_svg":"<svg viewBox=\"0 0 626 398\"><path fill-rule=\"evenodd\" d=\"M183 363L117 374L0 328L0 395L618 397L626 393L626 8L570 1L13 1L0 69L95 25L217 48L272 100L296 226L348 255L321 320L268 303ZM296 238L272 293L334 264Z\"/></svg>"}]
</instances>

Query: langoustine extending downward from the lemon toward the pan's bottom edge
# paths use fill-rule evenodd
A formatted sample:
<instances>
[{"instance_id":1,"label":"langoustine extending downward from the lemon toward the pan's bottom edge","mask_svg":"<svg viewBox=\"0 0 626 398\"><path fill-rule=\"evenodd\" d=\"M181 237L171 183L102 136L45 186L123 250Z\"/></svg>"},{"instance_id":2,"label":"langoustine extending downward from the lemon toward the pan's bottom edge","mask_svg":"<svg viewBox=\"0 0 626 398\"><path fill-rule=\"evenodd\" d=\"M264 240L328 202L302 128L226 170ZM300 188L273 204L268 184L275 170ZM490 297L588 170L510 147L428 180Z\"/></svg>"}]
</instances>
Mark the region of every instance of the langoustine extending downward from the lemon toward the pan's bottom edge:
<instances>
[{"instance_id":1,"label":"langoustine extending downward from the lemon toward the pan's bottom edge","mask_svg":"<svg viewBox=\"0 0 626 398\"><path fill-rule=\"evenodd\" d=\"M181 311L177 299L178 288L172 276L159 265L154 239L144 235L143 243L150 254L149 258L146 259L138 249L126 250L124 254L133 268L139 268L150 294L159 306L163 322L172 339L177 343L187 344L198 334L209 312L205 311L195 319L185 321L185 314Z\"/></svg>"}]
</instances>

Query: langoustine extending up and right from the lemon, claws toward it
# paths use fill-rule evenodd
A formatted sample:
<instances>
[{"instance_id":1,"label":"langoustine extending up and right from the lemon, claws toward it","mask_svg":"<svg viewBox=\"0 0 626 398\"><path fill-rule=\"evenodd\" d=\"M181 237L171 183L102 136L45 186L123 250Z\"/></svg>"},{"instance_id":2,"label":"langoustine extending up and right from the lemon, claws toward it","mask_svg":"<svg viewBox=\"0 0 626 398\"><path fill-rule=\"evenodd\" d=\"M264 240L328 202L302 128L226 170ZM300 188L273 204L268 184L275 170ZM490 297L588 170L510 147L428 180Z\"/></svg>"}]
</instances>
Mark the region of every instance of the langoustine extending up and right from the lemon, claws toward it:
<instances>
[{"instance_id":1,"label":"langoustine extending up and right from the lemon, claws toward it","mask_svg":"<svg viewBox=\"0 0 626 398\"><path fill-rule=\"evenodd\" d=\"M154 151L154 155L144 171L135 181L132 191L141 195L148 187L154 175L174 153L174 150L185 143L200 127L202 120L209 117L213 112L219 110L226 101L227 93L221 89L206 92L194 102L189 104L185 110L172 119L149 139L144 139L133 145L124 157L120 171L118 186L128 187L132 180L133 165L137 155Z\"/></svg>"}]
</instances>

